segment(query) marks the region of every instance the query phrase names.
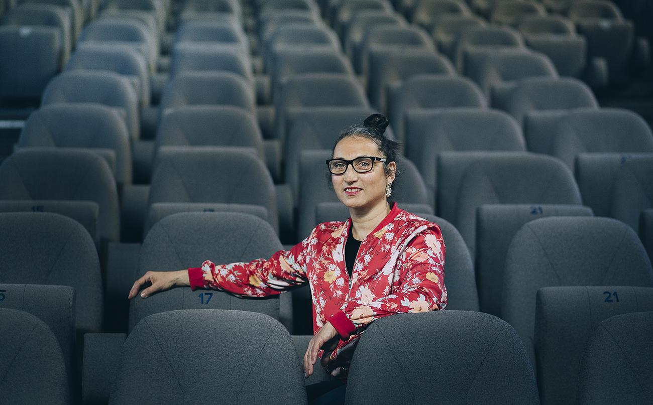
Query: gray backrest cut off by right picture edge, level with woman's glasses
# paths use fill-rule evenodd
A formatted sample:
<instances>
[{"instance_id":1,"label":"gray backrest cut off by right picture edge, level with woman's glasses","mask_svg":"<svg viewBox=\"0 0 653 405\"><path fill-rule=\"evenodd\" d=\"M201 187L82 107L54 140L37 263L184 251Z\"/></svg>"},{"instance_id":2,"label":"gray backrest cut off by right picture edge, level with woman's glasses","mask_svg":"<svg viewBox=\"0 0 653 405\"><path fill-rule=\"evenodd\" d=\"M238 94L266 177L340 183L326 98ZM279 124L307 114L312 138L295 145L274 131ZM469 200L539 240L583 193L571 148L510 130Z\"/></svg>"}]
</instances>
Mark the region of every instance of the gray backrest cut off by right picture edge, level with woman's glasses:
<instances>
[{"instance_id":1,"label":"gray backrest cut off by right picture edge, level with woman's glasses","mask_svg":"<svg viewBox=\"0 0 653 405\"><path fill-rule=\"evenodd\" d=\"M626 160L614 178L610 216L637 230L639 215L653 207L653 155Z\"/></svg>"}]
</instances>

